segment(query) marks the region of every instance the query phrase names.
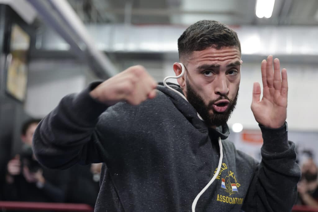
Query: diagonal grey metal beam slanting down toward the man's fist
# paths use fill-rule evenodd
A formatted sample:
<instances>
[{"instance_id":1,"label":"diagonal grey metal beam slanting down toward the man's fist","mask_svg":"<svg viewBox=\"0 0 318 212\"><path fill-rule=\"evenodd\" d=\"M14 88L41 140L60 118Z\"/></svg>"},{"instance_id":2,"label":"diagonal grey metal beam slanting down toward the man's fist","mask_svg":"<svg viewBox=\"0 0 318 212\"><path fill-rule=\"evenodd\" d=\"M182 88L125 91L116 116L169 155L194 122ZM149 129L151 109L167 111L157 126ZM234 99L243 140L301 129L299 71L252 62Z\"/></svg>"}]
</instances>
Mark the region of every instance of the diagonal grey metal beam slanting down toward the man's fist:
<instances>
[{"instance_id":1,"label":"diagonal grey metal beam slanting down toward the man's fist","mask_svg":"<svg viewBox=\"0 0 318 212\"><path fill-rule=\"evenodd\" d=\"M37 10L44 23L66 40L77 57L86 60L96 76L107 79L118 73L107 56L96 48L86 27L66 1L27 1Z\"/></svg>"}]
</instances>

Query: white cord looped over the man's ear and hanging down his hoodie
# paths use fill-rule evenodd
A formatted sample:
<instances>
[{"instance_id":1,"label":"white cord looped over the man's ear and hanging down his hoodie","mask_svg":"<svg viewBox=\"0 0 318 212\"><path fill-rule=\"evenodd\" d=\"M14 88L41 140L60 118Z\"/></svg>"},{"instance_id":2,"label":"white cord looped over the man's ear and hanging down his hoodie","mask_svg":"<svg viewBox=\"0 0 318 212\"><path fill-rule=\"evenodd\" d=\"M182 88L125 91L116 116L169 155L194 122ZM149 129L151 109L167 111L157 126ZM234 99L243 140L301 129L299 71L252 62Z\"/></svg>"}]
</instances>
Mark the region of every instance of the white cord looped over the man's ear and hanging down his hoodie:
<instances>
[{"instance_id":1,"label":"white cord looped over the man's ear and hanging down his hoodie","mask_svg":"<svg viewBox=\"0 0 318 212\"><path fill-rule=\"evenodd\" d=\"M170 90L172 90L173 92L176 92L177 94L179 94L183 99L185 99L187 102L187 98L185 98L184 95L182 95L182 93L176 91L175 89L173 89L172 87L170 87L167 83L166 83L166 80L169 79L169 78L173 78L173 79L178 79L180 77L183 76L184 72L185 72L185 68L184 68L184 65L182 63L179 63L182 67L182 71L181 71L181 74L178 75L178 76L168 76L168 77L165 77L163 79L163 85L166 86L167 88L169 88ZM202 119L202 117L199 115L199 113L197 113L198 117L200 120L204 121ZM217 169L217 172L214 174L214 176L212 177L212 179L210 180L210 182L200 191L200 193L196 196L196 198L194 199L194 201L192 202L192 212L195 212L196 211L196 205L197 205L197 202L200 198L200 196L206 191L206 189L209 188L209 186L213 183L213 181L217 178L220 170L221 170L221 165L222 165L222 159L223 159L223 147L222 147L222 141L221 141L221 138L218 137L218 143L219 143L219 147L220 147L220 159L219 159L219 164L218 164L218 169Z\"/></svg>"}]
</instances>

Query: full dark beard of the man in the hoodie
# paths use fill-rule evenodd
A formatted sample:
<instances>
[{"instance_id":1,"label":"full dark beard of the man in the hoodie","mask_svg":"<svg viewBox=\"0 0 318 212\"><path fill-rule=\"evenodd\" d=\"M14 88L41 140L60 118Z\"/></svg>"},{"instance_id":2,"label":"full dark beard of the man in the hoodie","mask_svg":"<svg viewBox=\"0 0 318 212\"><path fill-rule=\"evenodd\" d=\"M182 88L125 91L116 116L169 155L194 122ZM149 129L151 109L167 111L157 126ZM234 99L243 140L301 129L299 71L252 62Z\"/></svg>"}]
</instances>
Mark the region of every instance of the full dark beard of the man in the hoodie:
<instances>
[{"instance_id":1,"label":"full dark beard of the man in the hoodie","mask_svg":"<svg viewBox=\"0 0 318 212\"><path fill-rule=\"evenodd\" d=\"M191 87L188 80L186 80L186 87L188 101L197 110L208 126L222 126L226 124L227 120L229 120L233 110L235 109L239 95L239 88L233 100L229 99L227 96L220 96L218 99L211 100L208 105L205 105L203 98ZM222 113L213 109L213 104L221 99L227 99L230 101L228 105L229 107L225 112ZM213 113L210 113L210 110L212 110Z\"/></svg>"}]
</instances>

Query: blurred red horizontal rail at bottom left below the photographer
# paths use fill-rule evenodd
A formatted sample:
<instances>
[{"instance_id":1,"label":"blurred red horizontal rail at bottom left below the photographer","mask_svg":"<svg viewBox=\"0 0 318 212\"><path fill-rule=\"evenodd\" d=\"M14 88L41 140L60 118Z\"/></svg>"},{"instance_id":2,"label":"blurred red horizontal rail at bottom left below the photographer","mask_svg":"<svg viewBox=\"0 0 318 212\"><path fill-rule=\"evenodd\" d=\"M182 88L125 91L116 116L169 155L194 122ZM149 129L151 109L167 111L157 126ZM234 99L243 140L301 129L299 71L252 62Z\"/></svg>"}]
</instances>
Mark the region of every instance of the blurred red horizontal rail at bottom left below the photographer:
<instances>
[{"instance_id":1,"label":"blurred red horizontal rail at bottom left below the photographer","mask_svg":"<svg viewBox=\"0 0 318 212\"><path fill-rule=\"evenodd\" d=\"M9 202L0 201L0 209L6 210L55 210L93 212L94 209L86 204L52 203L52 202Z\"/></svg>"}]
</instances>

